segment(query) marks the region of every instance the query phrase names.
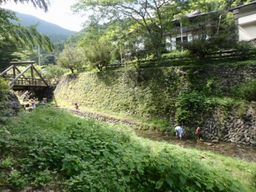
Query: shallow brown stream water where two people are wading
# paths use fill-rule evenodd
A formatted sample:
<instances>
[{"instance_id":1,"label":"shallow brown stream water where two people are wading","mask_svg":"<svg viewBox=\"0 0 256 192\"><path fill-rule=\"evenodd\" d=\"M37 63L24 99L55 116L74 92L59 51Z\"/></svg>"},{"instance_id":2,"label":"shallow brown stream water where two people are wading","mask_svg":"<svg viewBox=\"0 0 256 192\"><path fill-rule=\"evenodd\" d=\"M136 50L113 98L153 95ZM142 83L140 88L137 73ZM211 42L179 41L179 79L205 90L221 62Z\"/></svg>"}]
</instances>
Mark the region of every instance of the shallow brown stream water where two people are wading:
<instances>
[{"instance_id":1,"label":"shallow brown stream water where two people are wading","mask_svg":"<svg viewBox=\"0 0 256 192\"><path fill-rule=\"evenodd\" d=\"M168 143L180 145L184 148L196 148L198 150L211 151L223 156L237 157L246 161L256 162L256 147L240 145L237 143L211 143L211 140L196 141L186 139L179 141L170 133L156 131L134 130L138 136L154 141L166 141Z\"/></svg>"}]
</instances>

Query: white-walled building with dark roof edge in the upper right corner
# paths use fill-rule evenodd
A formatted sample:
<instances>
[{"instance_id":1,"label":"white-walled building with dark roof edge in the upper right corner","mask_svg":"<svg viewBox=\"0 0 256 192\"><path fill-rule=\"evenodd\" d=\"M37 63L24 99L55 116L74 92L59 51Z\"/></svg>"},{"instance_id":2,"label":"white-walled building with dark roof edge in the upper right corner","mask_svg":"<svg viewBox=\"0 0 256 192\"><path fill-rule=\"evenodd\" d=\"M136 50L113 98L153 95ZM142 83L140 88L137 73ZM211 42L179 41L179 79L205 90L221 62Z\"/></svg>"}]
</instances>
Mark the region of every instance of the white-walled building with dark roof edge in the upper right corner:
<instances>
[{"instance_id":1,"label":"white-walled building with dark roof edge in the upper right corner","mask_svg":"<svg viewBox=\"0 0 256 192\"><path fill-rule=\"evenodd\" d=\"M256 40L256 1L229 10L233 12L239 31L239 41Z\"/></svg>"}]
</instances>

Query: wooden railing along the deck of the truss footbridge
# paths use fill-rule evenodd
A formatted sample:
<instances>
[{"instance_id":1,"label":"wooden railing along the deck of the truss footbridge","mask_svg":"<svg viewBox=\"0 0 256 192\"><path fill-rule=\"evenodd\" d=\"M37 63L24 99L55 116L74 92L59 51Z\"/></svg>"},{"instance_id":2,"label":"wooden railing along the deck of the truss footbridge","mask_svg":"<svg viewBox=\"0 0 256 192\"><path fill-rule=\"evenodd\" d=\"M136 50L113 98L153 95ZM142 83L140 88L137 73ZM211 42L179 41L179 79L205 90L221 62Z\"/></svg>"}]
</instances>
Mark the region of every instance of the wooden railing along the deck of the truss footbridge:
<instances>
[{"instance_id":1,"label":"wooden railing along the deck of the truss footbridge","mask_svg":"<svg viewBox=\"0 0 256 192\"><path fill-rule=\"evenodd\" d=\"M3 76L4 79L8 82L12 82L15 77L13 76ZM47 84L50 84L49 81L47 81ZM36 79L36 78L30 78L30 77L19 77L14 85L21 85L21 86L47 86L47 84L42 81L42 79Z\"/></svg>"}]
</instances>

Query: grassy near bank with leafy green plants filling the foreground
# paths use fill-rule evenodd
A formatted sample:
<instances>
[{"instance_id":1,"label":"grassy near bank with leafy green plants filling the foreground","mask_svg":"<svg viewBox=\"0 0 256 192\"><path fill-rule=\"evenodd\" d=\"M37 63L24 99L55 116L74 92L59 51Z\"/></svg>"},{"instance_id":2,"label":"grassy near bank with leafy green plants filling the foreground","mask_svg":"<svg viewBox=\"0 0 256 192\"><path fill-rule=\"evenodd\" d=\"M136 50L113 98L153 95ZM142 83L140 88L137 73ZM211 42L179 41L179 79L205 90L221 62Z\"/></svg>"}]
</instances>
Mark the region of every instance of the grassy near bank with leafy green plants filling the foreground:
<instances>
[{"instance_id":1,"label":"grassy near bank with leafy green plants filling the foreground","mask_svg":"<svg viewBox=\"0 0 256 192\"><path fill-rule=\"evenodd\" d=\"M256 164L41 106L0 126L0 189L255 191Z\"/></svg>"}]
</instances>

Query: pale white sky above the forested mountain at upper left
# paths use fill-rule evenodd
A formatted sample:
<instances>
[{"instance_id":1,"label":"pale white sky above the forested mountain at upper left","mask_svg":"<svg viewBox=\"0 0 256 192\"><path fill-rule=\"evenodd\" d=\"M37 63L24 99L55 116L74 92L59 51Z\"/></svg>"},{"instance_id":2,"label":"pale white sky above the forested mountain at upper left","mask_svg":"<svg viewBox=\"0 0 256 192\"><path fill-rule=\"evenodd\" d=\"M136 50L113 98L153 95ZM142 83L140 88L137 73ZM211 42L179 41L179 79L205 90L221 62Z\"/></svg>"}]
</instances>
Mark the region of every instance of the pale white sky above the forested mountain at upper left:
<instances>
[{"instance_id":1,"label":"pale white sky above the forested mountain at upper left","mask_svg":"<svg viewBox=\"0 0 256 192\"><path fill-rule=\"evenodd\" d=\"M51 0L51 5L46 13L39 8L36 9L31 3L15 4L11 0L7 1L6 4L3 3L1 8L7 8L15 12L33 15L42 20L46 20L47 22L57 24L58 26L61 26L61 28L80 31L85 19L80 15L73 15L70 9L70 6L76 2L77 0Z\"/></svg>"}]
</instances>

